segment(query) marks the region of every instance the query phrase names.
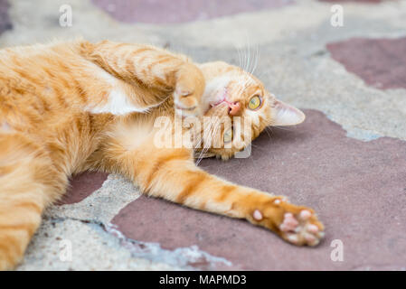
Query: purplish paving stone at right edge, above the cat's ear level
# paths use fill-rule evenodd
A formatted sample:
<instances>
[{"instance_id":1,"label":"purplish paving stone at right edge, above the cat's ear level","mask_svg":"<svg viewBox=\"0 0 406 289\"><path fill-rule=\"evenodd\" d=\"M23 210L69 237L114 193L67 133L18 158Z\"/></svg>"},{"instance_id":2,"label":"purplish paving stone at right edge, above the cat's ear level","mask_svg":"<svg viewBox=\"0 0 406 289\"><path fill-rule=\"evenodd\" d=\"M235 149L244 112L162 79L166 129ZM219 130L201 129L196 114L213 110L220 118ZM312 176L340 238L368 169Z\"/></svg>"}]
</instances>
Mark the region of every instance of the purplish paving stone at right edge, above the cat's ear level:
<instances>
[{"instance_id":1,"label":"purplish paving stone at right edge, above the cat's ear level","mask_svg":"<svg viewBox=\"0 0 406 289\"><path fill-rule=\"evenodd\" d=\"M406 37L327 44L335 61L377 89L406 89Z\"/></svg>"}]
</instances>

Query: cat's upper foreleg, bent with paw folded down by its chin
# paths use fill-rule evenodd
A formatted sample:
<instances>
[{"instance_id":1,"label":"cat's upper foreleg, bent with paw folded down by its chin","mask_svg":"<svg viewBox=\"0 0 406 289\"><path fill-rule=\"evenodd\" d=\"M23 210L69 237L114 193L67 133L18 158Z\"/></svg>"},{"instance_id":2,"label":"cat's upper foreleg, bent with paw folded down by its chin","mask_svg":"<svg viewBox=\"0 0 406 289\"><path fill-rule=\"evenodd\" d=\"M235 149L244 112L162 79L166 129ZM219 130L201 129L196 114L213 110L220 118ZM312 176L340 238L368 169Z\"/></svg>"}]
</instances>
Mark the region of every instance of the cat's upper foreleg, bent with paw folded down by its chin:
<instances>
[{"instance_id":1,"label":"cat's upper foreleg, bent with paw folded down by its chin","mask_svg":"<svg viewBox=\"0 0 406 289\"><path fill-rule=\"evenodd\" d=\"M150 91L173 93L175 111L185 117L202 115L202 71L183 55L145 44L81 42L80 53L118 79ZM159 103L159 93L150 94ZM167 95L167 94L166 94ZM138 96L139 97L139 96ZM151 102L149 102L151 103Z\"/></svg>"}]
</instances>

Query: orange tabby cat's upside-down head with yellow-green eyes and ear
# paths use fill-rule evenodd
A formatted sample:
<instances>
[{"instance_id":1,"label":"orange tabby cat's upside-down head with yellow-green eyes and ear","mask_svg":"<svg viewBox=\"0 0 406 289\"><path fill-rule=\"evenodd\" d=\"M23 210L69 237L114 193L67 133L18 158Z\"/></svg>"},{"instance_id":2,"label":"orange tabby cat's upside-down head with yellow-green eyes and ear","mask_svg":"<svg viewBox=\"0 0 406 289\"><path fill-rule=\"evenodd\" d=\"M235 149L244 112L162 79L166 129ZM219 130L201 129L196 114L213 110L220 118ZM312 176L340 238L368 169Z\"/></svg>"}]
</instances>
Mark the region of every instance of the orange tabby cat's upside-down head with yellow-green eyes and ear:
<instances>
[{"instance_id":1,"label":"orange tabby cat's upside-down head with yellow-green eyes and ear","mask_svg":"<svg viewBox=\"0 0 406 289\"><path fill-rule=\"evenodd\" d=\"M197 152L201 157L228 159L267 126L294 126L305 120L303 112L275 98L260 79L239 67L216 61L203 63L200 68L206 79L204 116L220 119L205 127L203 140L209 143L212 135L221 135L220 145L212 144Z\"/></svg>"}]
</instances>

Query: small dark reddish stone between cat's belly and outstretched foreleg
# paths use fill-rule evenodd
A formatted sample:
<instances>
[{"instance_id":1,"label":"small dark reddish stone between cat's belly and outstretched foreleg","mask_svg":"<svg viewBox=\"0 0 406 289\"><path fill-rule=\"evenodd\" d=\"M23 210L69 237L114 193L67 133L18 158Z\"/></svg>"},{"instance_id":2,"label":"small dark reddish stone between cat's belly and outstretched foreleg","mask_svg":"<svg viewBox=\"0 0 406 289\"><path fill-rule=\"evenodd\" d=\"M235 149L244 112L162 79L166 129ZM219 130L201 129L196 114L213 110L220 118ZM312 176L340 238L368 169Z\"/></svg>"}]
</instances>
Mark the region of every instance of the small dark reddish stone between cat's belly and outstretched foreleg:
<instances>
[{"instance_id":1,"label":"small dark reddish stone between cat's belly and outstretched foreleg","mask_svg":"<svg viewBox=\"0 0 406 289\"><path fill-rule=\"evenodd\" d=\"M103 172L83 172L75 175L70 182L69 188L63 195L58 205L67 205L80 202L90 196L93 191L98 190L108 177Z\"/></svg>"}]
</instances>

